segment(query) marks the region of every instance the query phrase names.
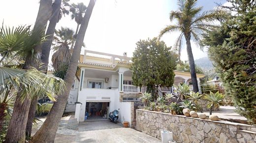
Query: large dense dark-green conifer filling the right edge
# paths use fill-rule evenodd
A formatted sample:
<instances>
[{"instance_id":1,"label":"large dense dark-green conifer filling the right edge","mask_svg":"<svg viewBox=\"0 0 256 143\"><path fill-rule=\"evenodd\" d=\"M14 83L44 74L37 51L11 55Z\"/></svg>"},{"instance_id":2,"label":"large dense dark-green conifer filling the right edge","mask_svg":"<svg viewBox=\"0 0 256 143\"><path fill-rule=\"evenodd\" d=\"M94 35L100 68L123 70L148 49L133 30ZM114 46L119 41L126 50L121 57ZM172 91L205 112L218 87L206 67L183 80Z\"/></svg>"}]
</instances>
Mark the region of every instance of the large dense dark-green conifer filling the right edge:
<instances>
[{"instance_id":1,"label":"large dense dark-green conifer filling the right edge","mask_svg":"<svg viewBox=\"0 0 256 143\"><path fill-rule=\"evenodd\" d=\"M230 0L233 14L204 36L215 71L240 115L256 124L256 4Z\"/></svg>"}]
</instances>

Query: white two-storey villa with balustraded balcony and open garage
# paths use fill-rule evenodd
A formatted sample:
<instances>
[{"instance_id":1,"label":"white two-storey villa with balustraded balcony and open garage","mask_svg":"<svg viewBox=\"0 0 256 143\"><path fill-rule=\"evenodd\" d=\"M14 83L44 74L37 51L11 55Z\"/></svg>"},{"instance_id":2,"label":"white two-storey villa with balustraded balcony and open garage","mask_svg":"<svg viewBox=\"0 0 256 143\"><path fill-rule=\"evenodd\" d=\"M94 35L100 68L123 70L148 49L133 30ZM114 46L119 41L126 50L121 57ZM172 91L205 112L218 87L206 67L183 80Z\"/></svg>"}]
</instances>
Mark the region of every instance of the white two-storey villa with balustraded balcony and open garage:
<instances>
[{"instance_id":1,"label":"white two-storey villa with balustraded balcony and open garage","mask_svg":"<svg viewBox=\"0 0 256 143\"><path fill-rule=\"evenodd\" d=\"M119 121L134 119L134 102L139 101L139 94L145 91L133 85L129 70L131 58L126 52L123 56L85 50L80 55L78 75L74 79L65 112L75 112L77 121L85 121L85 116L99 119L108 116L109 112L120 109ZM203 74L197 74L199 78ZM175 71L174 85L188 84L191 81L189 72ZM199 86L200 87L200 86ZM173 93L173 87L159 88L159 94Z\"/></svg>"}]
</instances>

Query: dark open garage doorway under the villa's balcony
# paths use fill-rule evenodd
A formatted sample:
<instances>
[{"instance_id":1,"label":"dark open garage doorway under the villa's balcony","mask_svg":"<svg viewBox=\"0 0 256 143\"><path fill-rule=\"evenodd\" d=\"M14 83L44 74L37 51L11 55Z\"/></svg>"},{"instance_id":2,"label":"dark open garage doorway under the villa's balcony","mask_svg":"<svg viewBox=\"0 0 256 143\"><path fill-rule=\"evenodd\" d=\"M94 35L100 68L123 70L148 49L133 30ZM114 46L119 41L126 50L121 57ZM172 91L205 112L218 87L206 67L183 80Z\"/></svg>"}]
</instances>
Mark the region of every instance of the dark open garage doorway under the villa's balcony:
<instances>
[{"instance_id":1,"label":"dark open garage doorway under the villa's balcony","mask_svg":"<svg viewBox=\"0 0 256 143\"><path fill-rule=\"evenodd\" d=\"M85 121L108 120L109 102L86 102Z\"/></svg>"}]
</instances>

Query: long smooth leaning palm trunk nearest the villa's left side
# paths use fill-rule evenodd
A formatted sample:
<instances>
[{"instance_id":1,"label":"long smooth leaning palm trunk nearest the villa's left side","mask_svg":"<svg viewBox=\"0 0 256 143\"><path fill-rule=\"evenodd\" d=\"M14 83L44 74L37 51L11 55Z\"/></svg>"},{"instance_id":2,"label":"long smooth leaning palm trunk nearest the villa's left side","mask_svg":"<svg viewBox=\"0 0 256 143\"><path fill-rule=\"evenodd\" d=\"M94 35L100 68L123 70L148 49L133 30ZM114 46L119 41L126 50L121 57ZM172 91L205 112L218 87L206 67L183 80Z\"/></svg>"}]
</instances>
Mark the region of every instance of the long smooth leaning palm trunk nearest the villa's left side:
<instances>
[{"instance_id":1,"label":"long smooth leaning palm trunk nearest the villa's left side","mask_svg":"<svg viewBox=\"0 0 256 143\"><path fill-rule=\"evenodd\" d=\"M47 119L45 120L41 128L32 137L30 141L31 143L53 143L54 142L58 125L62 118L65 104L68 99L68 95L71 90L71 86L75 77L79 55L80 55L82 44L84 41L85 32L88 27L88 23L92 15L95 2L96 0L90 0L90 3L88 5L88 8L86 10L85 16L83 18L81 27L77 35L73 54L70 59L70 64L68 66L68 70L64 78L64 81L66 82L66 91L64 91L64 93L61 95L61 98L58 98L58 100L54 103L50 113L47 116Z\"/></svg>"}]
</instances>

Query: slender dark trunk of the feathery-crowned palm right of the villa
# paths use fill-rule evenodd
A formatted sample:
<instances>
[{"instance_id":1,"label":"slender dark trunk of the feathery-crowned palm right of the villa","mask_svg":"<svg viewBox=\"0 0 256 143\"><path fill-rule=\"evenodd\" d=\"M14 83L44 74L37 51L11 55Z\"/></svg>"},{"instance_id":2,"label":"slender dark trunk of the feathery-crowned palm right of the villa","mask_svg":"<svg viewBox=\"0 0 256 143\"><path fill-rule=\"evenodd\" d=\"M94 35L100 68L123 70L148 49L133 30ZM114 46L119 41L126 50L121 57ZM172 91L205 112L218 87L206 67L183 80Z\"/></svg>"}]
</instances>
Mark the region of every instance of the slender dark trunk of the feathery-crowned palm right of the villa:
<instances>
[{"instance_id":1,"label":"slender dark trunk of the feathery-crowned palm right of the villa","mask_svg":"<svg viewBox=\"0 0 256 143\"><path fill-rule=\"evenodd\" d=\"M198 84L196 79L194 57L193 57L191 43L190 43L191 35L188 34L188 36L185 36L185 38L186 38L186 44L187 44L188 59L190 63L190 74L192 79L193 91L197 93L199 90L198 90Z\"/></svg>"}]
</instances>

